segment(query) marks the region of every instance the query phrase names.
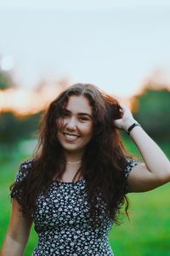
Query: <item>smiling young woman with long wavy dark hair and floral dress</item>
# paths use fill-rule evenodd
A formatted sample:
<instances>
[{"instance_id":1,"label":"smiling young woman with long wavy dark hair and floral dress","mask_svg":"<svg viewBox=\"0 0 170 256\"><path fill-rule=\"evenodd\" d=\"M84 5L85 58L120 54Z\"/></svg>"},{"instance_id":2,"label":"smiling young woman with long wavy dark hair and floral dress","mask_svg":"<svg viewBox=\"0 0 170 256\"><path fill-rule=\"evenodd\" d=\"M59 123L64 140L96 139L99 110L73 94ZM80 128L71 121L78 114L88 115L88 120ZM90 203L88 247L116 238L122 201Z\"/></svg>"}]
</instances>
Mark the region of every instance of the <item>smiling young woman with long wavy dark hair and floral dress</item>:
<instances>
[{"instance_id":1,"label":"smiling young woman with long wavy dark hair and floral dress","mask_svg":"<svg viewBox=\"0 0 170 256\"><path fill-rule=\"evenodd\" d=\"M143 163L125 154L117 128ZM37 153L20 166L1 255L24 255L34 223L34 256L111 256L108 234L127 192L169 181L169 160L130 110L92 84L74 84L49 105Z\"/></svg>"}]
</instances>

